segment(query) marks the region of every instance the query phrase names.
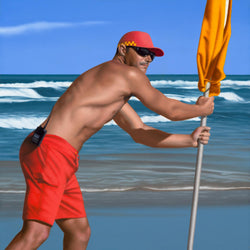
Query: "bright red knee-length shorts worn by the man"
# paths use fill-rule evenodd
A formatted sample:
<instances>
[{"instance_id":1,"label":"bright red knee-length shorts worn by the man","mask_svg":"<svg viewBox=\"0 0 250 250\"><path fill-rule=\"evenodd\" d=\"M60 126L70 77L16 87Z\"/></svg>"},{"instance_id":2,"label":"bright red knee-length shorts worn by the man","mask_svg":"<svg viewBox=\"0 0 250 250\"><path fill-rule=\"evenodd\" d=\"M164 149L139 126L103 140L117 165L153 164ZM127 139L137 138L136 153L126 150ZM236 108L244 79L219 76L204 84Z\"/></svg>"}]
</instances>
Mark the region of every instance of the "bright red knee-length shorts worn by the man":
<instances>
[{"instance_id":1,"label":"bright red knee-length shorts worn by the man","mask_svg":"<svg viewBox=\"0 0 250 250\"><path fill-rule=\"evenodd\" d=\"M26 180L24 220L53 225L57 219L86 217L82 192L75 172L79 156L66 140L46 135L38 147L30 134L20 149Z\"/></svg>"}]
</instances>

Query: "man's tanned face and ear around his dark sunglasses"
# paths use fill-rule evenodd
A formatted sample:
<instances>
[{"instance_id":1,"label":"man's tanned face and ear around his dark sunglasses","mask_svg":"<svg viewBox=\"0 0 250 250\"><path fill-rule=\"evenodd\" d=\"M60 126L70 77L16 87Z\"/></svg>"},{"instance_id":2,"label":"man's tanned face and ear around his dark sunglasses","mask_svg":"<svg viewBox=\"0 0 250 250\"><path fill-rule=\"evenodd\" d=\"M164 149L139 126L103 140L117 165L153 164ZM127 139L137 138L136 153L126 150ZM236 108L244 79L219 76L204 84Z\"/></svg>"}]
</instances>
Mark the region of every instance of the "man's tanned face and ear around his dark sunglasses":
<instances>
[{"instance_id":1,"label":"man's tanned face and ear around his dark sunglasses","mask_svg":"<svg viewBox=\"0 0 250 250\"><path fill-rule=\"evenodd\" d=\"M152 62L150 55L141 56L133 48L127 48L125 54L125 63L134 66L146 74L149 64Z\"/></svg>"}]
</instances>

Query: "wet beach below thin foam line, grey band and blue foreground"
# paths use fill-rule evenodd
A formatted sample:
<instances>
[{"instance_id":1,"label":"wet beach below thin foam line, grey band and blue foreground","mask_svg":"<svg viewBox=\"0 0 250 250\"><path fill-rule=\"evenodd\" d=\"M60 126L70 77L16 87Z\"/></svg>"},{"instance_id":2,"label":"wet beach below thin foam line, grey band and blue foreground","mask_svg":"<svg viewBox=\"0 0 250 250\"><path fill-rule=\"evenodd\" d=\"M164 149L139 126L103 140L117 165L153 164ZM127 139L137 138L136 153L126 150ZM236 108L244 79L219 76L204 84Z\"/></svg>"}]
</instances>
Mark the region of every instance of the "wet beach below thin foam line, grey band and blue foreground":
<instances>
[{"instance_id":1,"label":"wet beach below thin foam line, grey band and blue foreground","mask_svg":"<svg viewBox=\"0 0 250 250\"><path fill-rule=\"evenodd\" d=\"M0 165L1 170L9 169L5 169L5 178L20 179L18 162ZM13 165L16 167L11 168ZM83 197L92 228L88 249L186 249L191 191L83 192ZM23 199L23 191L0 193L0 249L21 229ZM248 250L249 235L250 190L200 191L194 249ZM63 234L54 224L39 249L62 249L62 240Z\"/></svg>"}]
</instances>

